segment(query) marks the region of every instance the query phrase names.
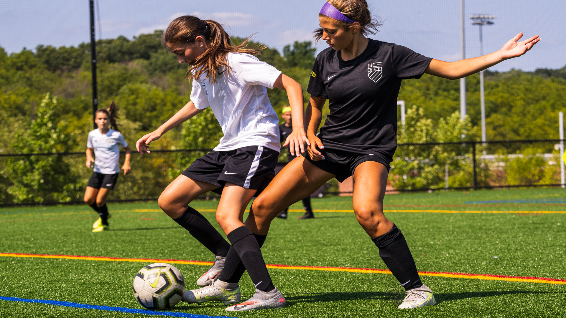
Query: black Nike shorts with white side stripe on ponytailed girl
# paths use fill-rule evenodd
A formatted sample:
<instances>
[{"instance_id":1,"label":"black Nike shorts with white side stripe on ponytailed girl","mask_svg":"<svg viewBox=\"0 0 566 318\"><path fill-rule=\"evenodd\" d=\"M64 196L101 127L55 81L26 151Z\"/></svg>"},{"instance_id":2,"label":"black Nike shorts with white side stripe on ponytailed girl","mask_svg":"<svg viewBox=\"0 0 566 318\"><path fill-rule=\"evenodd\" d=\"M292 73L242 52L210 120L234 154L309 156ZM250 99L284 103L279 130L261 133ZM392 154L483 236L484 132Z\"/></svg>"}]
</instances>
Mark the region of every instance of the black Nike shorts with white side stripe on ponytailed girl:
<instances>
[{"instance_id":1,"label":"black Nike shorts with white side stripe on ponytailed girl","mask_svg":"<svg viewBox=\"0 0 566 318\"><path fill-rule=\"evenodd\" d=\"M222 194L226 182L252 190L255 196L267 187L275 177L279 153L261 146L249 146L231 151L211 151L198 158L182 175L198 181L214 184L213 190Z\"/></svg>"}]
</instances>

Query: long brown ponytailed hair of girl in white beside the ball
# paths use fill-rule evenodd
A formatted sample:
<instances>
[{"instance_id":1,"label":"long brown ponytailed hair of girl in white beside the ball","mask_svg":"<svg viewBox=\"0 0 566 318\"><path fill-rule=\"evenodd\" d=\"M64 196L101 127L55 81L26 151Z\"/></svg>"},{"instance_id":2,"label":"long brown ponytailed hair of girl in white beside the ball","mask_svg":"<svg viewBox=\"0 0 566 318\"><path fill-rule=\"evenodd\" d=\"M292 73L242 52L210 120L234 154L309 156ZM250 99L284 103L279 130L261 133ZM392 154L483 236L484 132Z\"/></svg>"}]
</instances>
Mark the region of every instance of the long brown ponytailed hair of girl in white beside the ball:
<instances>
[{"instance_id":1,"label":"long brown ponytailed hair of girl in white beside the ball","mask_svg":"<svg viewBox=\"0 0 566 318\"><path fill-rule=\"evenodd\" d=\"M213 20L201 20L196 16L183 15L173 20L163 33L161 43L170 51L169 44L176 42L193 44L195 38L202 36L208 44L208 49L202 55L195 59L194 64L188 67L188 79L198 79L205 72L207 76L204 79L210 79L211 83L216 81L216 70L219 66L226 67L230 74L230 66L226 62L226 55L230 52L247 53L251 55L261 55L260 50L266 48L260 45L258 48L249 48L247 41L251 36L247 37L242 44L233 45L230 36L222 25ZM194 71L194 73L193 73Z\"/></svg>"}]
</instances>

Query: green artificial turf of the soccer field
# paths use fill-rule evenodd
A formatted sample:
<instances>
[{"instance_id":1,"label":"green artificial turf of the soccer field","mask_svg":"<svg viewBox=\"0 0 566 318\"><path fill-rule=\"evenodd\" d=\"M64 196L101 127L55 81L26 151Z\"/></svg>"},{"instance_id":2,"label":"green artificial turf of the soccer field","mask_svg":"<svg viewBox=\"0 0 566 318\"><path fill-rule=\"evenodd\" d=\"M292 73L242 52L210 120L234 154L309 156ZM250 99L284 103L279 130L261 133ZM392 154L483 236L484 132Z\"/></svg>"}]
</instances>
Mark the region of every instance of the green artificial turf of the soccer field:
<instances>
[{"instance_id":1,"label":"green artificial turf of the soccer field","mask_svg":"<svg viewBox=\"0 0 566 318\"><path fill-rule=\"evenodd\" d=\"M544 200L566 197L561 188L449 191L385 197L391 210L501 210L533 213L414 213L386 216L400 227L419 270L566 279L565 204L466 201ZM195 201L215 209L217 201ZM447 205L447 206L445 206ZM313 199L316 209L351 209L351 197ZM301 209L299 204L291 209ZM110 229L91 233L97 218L86 205L0 210L0 252L212 261L212 254L162 212L156 203L109 204ZM220 231L213 212L203 212ZM315 212L317 218L273 221L262 248L265 263L385 269L378 249L354 213ZM493 258L497 256L498 258ZM142 308L131 283L147 263L0 257L0 296ZM188 288L206 269L174 264ZM438 305L398 310L404 290L391 274L269 269L284 293L282 310L238 312L239 317L564 317L566 285L422 276ZM245 274L242 298L253 294ZM180 303L174 311L233 316L221 303ZM141 317L131 313L66 308L0 300L0 316Z\"/></svg>"}]
</instances>

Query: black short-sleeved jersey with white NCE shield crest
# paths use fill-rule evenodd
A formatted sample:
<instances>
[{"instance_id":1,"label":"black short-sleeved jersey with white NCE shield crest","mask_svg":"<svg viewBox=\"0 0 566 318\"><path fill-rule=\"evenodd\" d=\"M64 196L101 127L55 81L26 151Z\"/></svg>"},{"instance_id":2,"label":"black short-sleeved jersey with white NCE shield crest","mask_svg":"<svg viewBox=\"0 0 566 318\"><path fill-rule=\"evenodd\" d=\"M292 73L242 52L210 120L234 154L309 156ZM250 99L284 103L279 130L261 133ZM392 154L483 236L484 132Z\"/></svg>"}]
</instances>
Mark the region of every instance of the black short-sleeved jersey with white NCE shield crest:
<instances>
[{"instance_id":1,"label":"black short-sleeved jersey with white NCE shield crest","mask_svg":"<svg viewBox=\"0 0 566 318\"><path fill-rule=\"evenodd\" d=\"M405 46L372 39L349 61L332 48L319 53L307 92L330 102L319 135L324 148L393 161L401 80L421 78L431 60Z\"/></svg>"}]
</instances>

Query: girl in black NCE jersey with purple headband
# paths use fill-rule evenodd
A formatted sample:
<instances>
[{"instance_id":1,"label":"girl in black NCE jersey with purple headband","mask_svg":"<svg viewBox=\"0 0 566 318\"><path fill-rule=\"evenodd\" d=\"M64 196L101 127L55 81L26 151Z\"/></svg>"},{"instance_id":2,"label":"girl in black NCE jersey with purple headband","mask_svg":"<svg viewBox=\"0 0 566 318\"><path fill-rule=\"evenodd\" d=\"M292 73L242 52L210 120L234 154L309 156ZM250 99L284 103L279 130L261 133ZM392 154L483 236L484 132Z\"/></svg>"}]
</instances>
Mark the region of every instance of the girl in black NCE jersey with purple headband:
<instances>
[{"instance_id":1,"label":"girl in black NCE jersey with purple headband","mask_svg":"<svg viewBox=\"0 0 566 318\"><path fill-rule=\"evenodd\" d=\"M310 140L308 154L291 161L252 204L246 225L266 235L282 209L312 194L331 178L354 176L353 207L359 224L379 248L379 256L405 287L399 308L435 304L421 282L405 238L383 214L383 197L393 153L397 147L397 94L403 79L423 73L447 79L469 76L505 59L518 57L540 39L517 42L482 57L443 62L424 57L404 46L371 40L378 23L364 0L328 0L319 14L316 40L330 46L316 57L305 115ZM320 135L321 109L330 101L330 114Z\"/></svg>"}]
</instances>

